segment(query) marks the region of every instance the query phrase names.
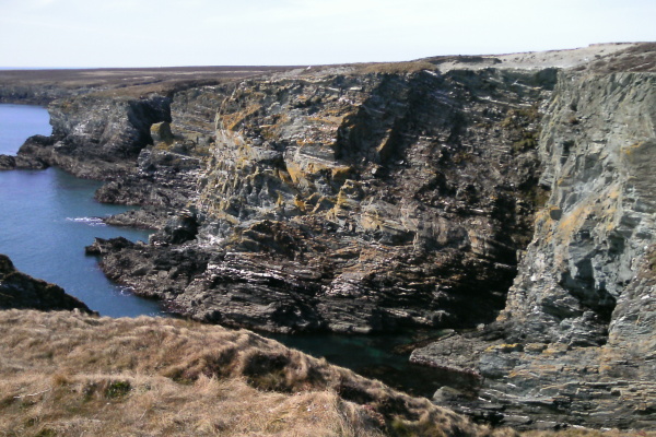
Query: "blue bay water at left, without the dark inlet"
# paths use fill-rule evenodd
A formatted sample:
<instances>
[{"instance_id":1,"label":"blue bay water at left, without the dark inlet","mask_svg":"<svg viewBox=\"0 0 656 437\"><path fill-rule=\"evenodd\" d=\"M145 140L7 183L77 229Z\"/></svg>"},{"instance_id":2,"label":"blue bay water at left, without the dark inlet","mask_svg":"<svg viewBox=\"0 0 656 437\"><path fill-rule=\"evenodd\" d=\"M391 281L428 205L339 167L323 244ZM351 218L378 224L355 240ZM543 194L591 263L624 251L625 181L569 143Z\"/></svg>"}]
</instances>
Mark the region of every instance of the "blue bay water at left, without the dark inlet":
<instances>
[{"instance_id":1,"label":"blue bay water at left, without the dark inlet","mask_svg":"<svg viewBox=\"0 0 656 437\"><path fill-rule=\"evenodd\" d=\"M0 105L0 154L15 154L33 134L49 134L46 109ZM101 182L57 168L0 172L0 253L34 276L63 287L103 316L163 315L161 306L112 283L95 257L84 253L94 237L148 240L150 232L106 226L98 217L129 206L93 200Z\"/></svg>"}]
</instances>

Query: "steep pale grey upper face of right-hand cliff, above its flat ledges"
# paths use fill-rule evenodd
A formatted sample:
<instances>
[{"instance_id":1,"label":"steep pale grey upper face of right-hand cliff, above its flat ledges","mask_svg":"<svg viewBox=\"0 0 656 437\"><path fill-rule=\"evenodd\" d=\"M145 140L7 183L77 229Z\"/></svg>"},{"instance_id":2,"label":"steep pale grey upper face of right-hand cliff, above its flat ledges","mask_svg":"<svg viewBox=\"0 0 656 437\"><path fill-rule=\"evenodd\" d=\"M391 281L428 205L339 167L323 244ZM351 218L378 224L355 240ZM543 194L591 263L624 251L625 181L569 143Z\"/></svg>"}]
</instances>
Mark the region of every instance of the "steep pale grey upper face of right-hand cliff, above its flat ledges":
<instances>
[{"instance_id":1,"label":"steep pale grey upper face of right-hand cliff, above its flat ledges","mask_svg":"<svg viewBox=\"0 0 656 437\"><path fill-rule=\"evenodd\" d=\"M552 194L504 317L546 342L602 345L654 240L656 78L563 74L555 94L540 139Z\"/></svg>"}]
</instances>

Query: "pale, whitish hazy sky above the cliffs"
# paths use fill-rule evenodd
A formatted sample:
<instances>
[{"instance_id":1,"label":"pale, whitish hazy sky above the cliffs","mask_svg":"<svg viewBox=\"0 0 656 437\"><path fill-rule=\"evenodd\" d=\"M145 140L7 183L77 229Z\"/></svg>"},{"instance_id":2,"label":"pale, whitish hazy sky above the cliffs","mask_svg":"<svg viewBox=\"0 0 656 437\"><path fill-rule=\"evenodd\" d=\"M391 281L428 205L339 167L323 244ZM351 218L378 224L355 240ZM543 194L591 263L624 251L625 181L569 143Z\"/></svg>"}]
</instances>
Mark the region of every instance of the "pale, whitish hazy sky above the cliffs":
<instances>
[{"instance_id":1,"label":"pale, whitish hazy sky above the cliffs","mask_svg":"<svg viewBox=\"0 0 656 437\"><path fill-rule=\"evenodd\" d=\"M0 0L0 67L309 66L656 40L656 0Z\"/></svg>"}]
</instances>

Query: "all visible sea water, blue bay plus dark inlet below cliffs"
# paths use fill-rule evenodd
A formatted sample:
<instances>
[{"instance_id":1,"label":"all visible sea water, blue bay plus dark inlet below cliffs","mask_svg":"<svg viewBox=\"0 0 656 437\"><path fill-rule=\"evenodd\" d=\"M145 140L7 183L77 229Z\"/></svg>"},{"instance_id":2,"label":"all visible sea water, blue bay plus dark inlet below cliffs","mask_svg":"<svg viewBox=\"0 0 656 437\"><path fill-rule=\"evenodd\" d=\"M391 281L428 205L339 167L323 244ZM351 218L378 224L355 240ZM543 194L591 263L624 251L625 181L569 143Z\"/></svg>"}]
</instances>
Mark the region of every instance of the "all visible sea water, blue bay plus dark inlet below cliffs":
<instances>
[{"instance_id":1,"label":"all visible sea water, blue bay plus dark inlet below cliffs","mask_svg":"<svg viewBox=\"0 0 656 437\"><path fill-rule=\"evenodd\" d=\"M14 155L28 137L50 131L45 108L0 104L0 154ZM130 206L96 202L93 194L101 185L58 168L0 170L0 253L8 255L22 272L58 284L102 316L171 316L156 300L136 296L109 281L98 259L84 253L95 237L145 241L150 235L149 231L102 222L101 217ZM261 334L413 394L430 397L446 378L434 369L410 365L408 349L402 347L441 332Z\"/></svg>"}]
</instances>

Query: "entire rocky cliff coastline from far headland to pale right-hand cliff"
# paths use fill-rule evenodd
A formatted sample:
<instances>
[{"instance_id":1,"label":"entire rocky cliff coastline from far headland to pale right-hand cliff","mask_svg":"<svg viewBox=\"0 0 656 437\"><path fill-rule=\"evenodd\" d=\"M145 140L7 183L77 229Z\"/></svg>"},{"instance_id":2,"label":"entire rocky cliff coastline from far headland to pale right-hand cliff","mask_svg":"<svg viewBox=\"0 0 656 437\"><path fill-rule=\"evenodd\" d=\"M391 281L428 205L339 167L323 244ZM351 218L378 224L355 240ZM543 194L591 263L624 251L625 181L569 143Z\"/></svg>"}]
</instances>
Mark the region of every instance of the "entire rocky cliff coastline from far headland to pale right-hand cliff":
<instances>
[{"instance_id":1,"label":"entire rocky cliff coastline from far headland to pale right-hand cliff","mask_svg":"<svg viewBox=\"0 0 656 437\"><path fill-rule=\"evenodd\" d=\"M515 427L649 429L654 46L89 94L52 103L52 137L15 160L148 205L110 221L157 228L149 244L87 250L180 314L274 332L476 328L412 354L471 381L435 402Z\"/></svg>"}]
</instances>

